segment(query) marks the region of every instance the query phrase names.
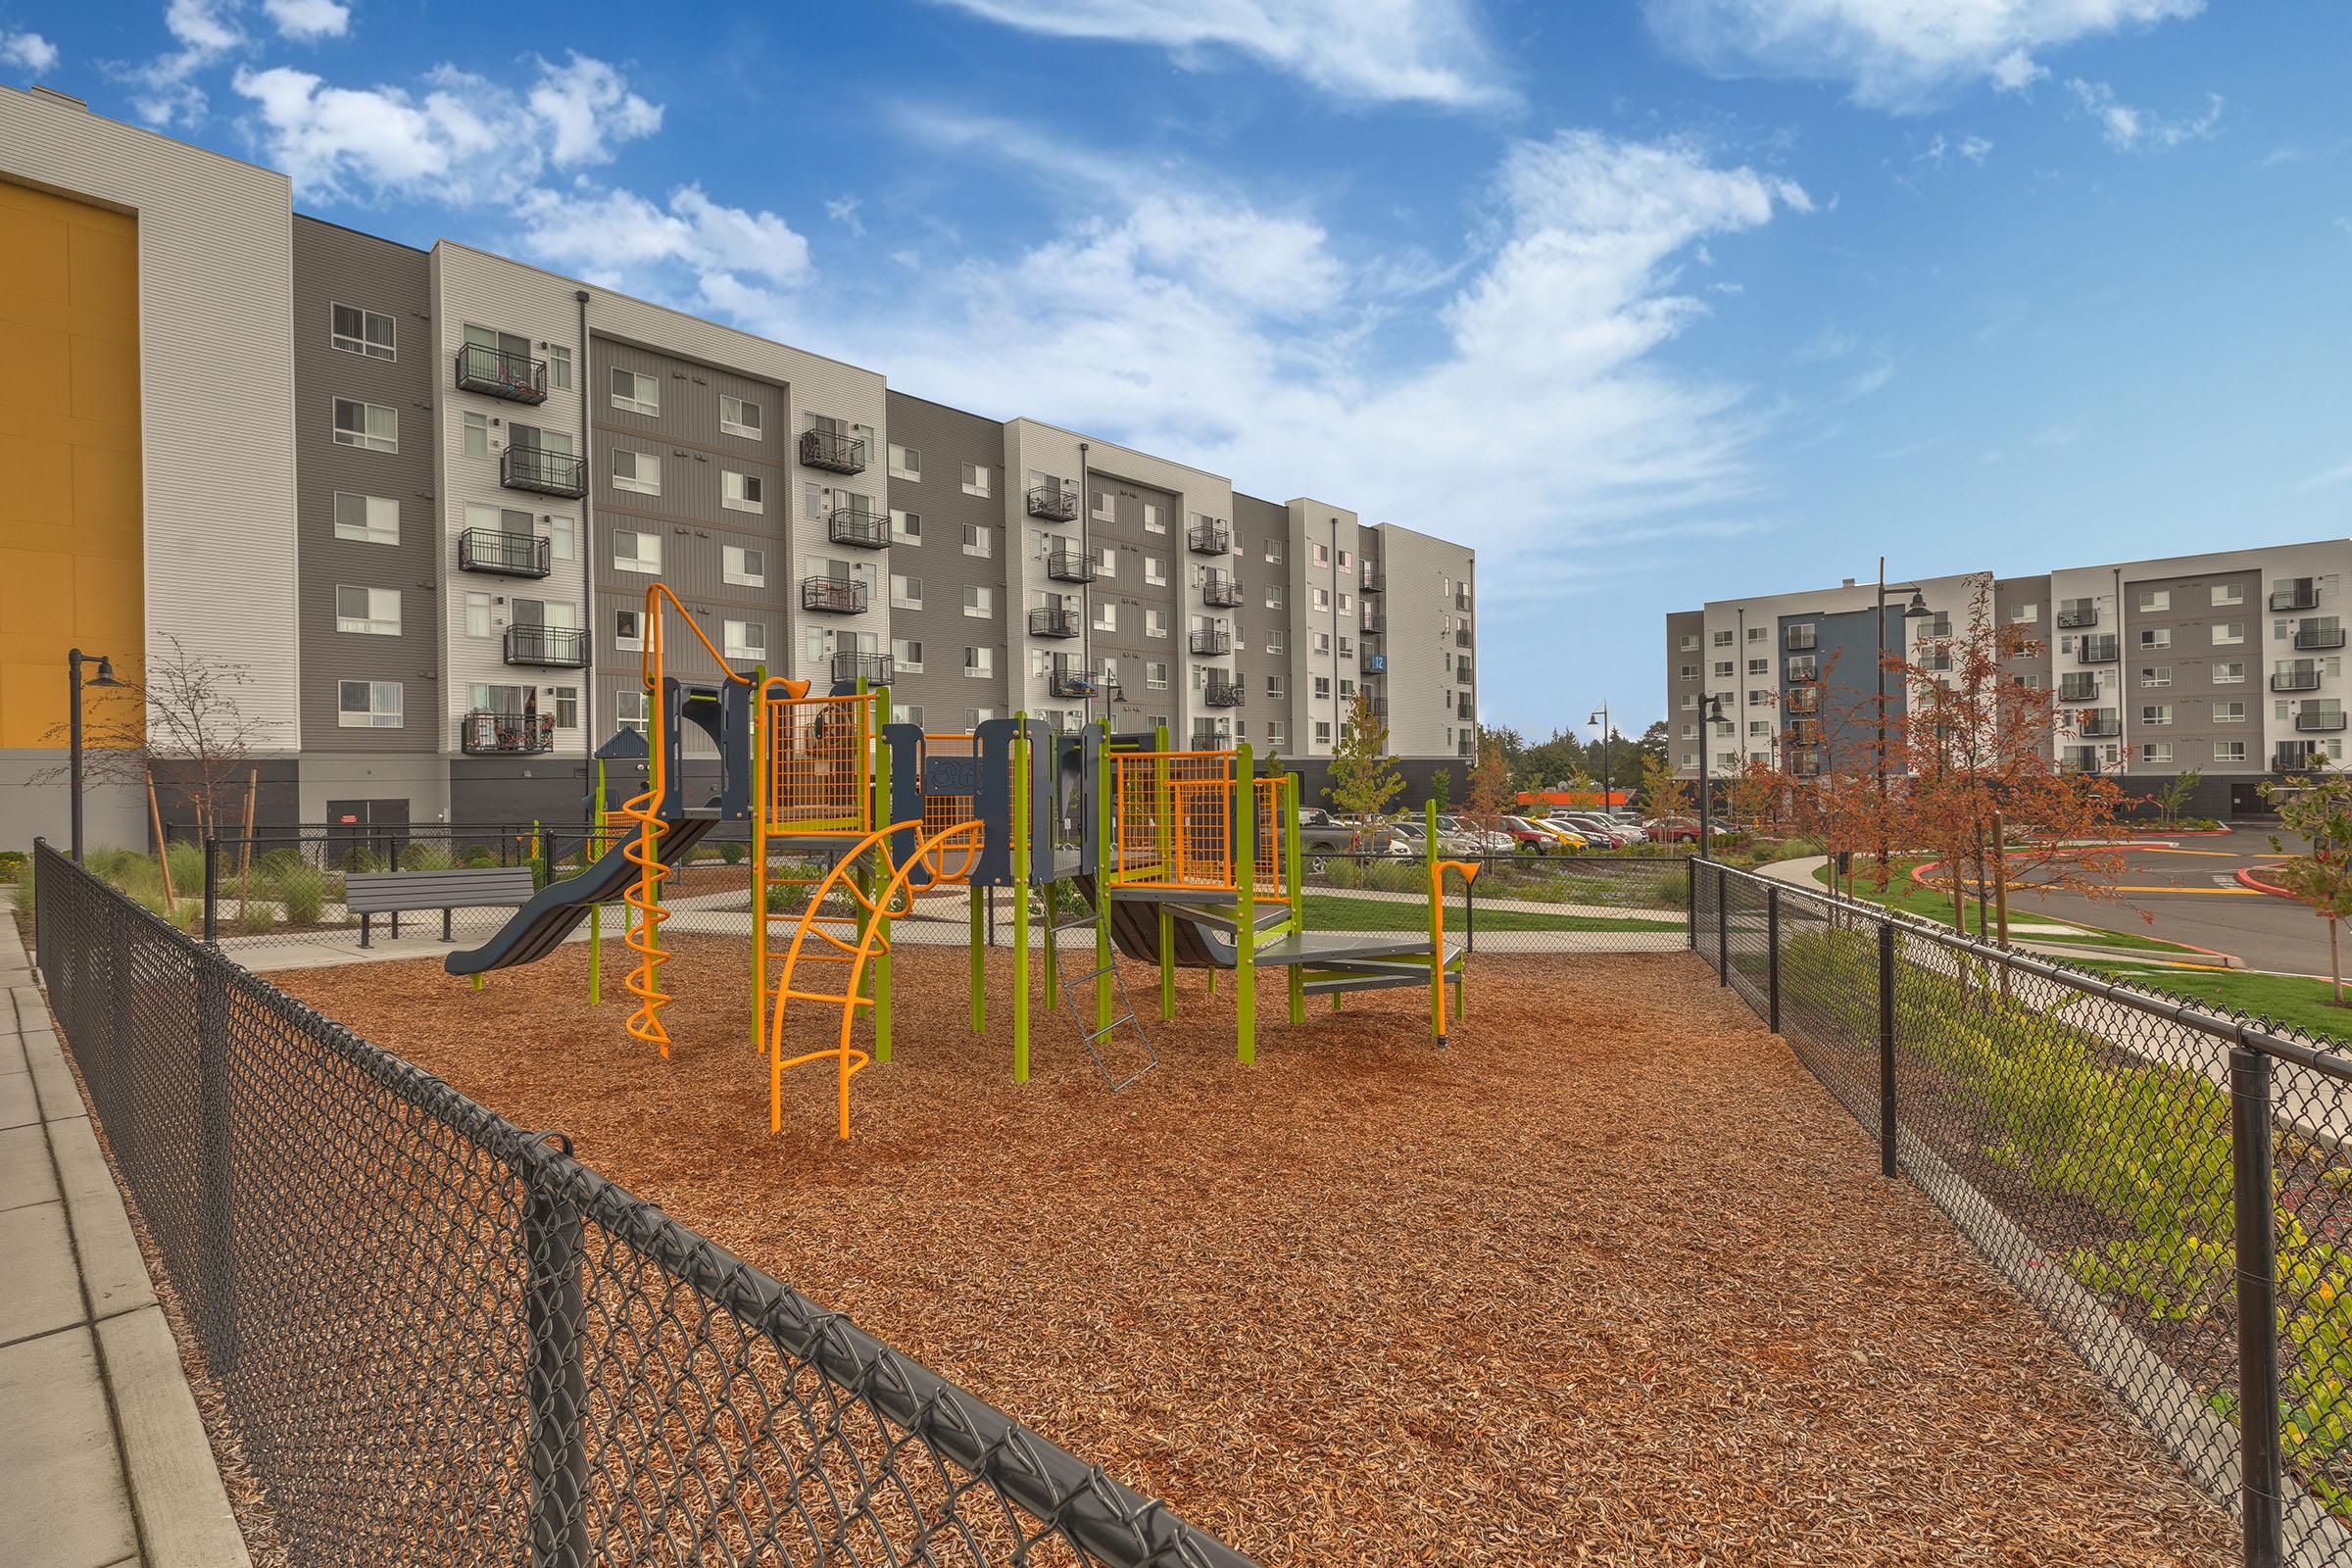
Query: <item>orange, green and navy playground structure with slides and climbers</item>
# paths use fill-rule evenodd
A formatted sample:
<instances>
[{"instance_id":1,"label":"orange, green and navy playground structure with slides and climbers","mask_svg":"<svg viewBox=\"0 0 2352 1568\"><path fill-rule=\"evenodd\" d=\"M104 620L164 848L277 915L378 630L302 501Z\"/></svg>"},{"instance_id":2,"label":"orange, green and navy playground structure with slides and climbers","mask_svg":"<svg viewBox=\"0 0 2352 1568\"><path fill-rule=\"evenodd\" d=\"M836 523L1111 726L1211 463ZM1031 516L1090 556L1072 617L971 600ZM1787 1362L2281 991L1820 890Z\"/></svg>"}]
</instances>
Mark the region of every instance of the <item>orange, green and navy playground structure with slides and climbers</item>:
<instances>
[{"instance_id":1,"label":"orange, green and navy playground structure with slides and climbers","mask_svg":"<svg viewBox=\"0 0 2352 1568\"><path fill-rule=\"evenodd\" d=\"M717 679L684 682L668 670L666 609L687 621L717 663ZM1033 947L1044 945L1044 1006L1068 1006L1070 1023L1112 1091L1157 1065L1127 994L1120 957L1160 971L1160 1018L1174 1018L1176 971L1232 973L1235 1058L1256 1063L1258 971L1282 971L1289 1020L1305 999L1428 987L1430 1034L1463 1011L1465 947L1444 933L1446 872L1465 882L1472 863L1428 860L1425 936L1315 933L1305 924L1296 778L1258 776L1251 748L1169 750L1167 731L1110 733L1108 722L1056 731L1042 719L988 719L974 733L924 733L889 715L889 689L863 679L811 696L807 682L739 672L703 637L668 588L644 607L647 783L619 813L604 811L600 750L597 827L619 820L590 865L541 889L489 943L447 959L447 971L480 976L529 964L562 945L604 905L626 910L623 940L637 957L628 976L628 1032L668 1056L661 1018L670 919L661 884L720 823L750 830L750 999L753 1041L769 1065L769 1128L783 1126L788 1067L833 1063L837 1133L849 1138L849 1081L891 1060L891 929L915 912L917 893L967 889L971 917L971 1030L988 1023L985 898L1014 891L1014 1081L1030 1077ZM717 750L717 790L687 799L682 741L689 731ZM1435 818L1435 804L1430 806ZM1428 842L1435 844L1435 820ZM814 860L814 877L781 875L776 856ZM807 889L779 919L776 889ZM1035 912L1033 912L1035 903ZM600 936L600 933L597 933ZM1091 966L1063 973L1065 940L1091 945ZM590 966L595 950L590 947ZM590 973L595 973L590 969ZM1091 1011L1087 999L1091 994ZM786 1053L793 1004L837 1009L833 1041ZM870 1046L858 1046L866 1016ZM1134 1041L1129 1051L1117 1039ZM1117 1058L1117 1065L1115 1065Z\"/></svg>"}]
</instances>

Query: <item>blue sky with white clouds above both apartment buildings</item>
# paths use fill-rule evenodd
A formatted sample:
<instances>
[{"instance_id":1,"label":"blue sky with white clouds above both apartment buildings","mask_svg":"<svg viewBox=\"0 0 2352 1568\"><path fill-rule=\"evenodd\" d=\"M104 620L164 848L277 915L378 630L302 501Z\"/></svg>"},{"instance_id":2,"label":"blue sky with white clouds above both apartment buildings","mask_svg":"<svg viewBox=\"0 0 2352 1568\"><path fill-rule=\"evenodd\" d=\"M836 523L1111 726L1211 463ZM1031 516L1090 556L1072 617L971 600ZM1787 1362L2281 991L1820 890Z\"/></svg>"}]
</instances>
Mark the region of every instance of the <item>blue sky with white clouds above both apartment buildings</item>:
<instances>
[{"instance_id":1,"label":"blue sky with white clouds above both apartment buildings","mask_svg":"<svg viewBox=\"0 0 2352 1568\"><path fill-rule=\"evenodd\" d=\"M0 80L1479 548L1482 698L1668 609L2352 515L2352 9L0 0Z\"/></svg>"}]
</instances>

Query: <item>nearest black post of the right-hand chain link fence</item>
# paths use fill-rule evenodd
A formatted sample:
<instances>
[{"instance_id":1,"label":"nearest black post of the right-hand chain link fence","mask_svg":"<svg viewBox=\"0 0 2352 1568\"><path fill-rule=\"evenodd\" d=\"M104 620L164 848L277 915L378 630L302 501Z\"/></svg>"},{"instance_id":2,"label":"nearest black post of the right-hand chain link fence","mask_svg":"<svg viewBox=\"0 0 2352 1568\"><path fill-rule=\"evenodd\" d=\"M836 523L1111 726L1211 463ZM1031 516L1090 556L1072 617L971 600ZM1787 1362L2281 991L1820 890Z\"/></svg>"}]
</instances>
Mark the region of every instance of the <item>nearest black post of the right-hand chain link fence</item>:
<instances>
[{"instance_id":1,"label":"nearest black post of the right-hand chain link fence","mask_svg":"<svg viewBox=\"0 0 2352 1568\"><path fill-rule=\"evenodd\" d=\"M2279 1502L2279 1232L2270 1175L2270 1058L2230 1048L2237 1251L2237 1432L2246 1568L2284 1561Z\"/></svg>"}]
</instances>

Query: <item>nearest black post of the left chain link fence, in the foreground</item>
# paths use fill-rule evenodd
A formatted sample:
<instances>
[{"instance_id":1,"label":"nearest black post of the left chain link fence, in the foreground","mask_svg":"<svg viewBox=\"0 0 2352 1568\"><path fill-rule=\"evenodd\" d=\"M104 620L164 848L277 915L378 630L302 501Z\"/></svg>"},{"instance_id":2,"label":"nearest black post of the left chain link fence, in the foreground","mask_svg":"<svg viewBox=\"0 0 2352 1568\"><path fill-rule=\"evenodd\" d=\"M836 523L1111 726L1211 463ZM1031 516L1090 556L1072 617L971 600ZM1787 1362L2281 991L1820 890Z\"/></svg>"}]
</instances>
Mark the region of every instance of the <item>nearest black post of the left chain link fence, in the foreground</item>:
<instances>
[{"instance_id":1,"label":"nearest black post of the left chain link fence, in the foreground","mask_svg":"<svg viewBox=\"0 0 2352 1568\"><path fill-rule=\"evenodd\" d=\"M564 1154L572 1140L555 1138ZM534 1145L534 1154L546 1150ZM581 1361L581 1213L546 1171L522 1166L522 1326L532 1345L532 1568L588 1563L588 1373Z\"/></svg>"}]
</instances>

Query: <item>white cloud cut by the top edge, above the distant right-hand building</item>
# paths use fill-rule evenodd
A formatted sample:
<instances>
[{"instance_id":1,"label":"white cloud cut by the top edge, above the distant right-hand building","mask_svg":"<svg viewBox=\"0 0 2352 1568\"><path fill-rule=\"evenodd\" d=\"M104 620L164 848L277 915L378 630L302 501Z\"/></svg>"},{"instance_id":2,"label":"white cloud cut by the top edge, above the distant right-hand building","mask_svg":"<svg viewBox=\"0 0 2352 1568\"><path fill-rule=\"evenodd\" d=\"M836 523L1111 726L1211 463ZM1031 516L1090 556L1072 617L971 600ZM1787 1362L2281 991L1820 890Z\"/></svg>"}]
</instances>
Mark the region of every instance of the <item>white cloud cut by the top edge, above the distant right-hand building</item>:
<instances>
[{"instance_id":1,"label":"white cloud cut by the top edge, above the distant right-hand building","mask_svg":"<svg viewBox=\"0 0 2352 1568\"><path fill-rule=\"evenodd\" d=\"M2194 16L2204 0L1646 0L1651 31L1717 75L1844 82L1915 110L1973 82L2018 92L2079 38Z\"/></svg>"}]
</instances>

